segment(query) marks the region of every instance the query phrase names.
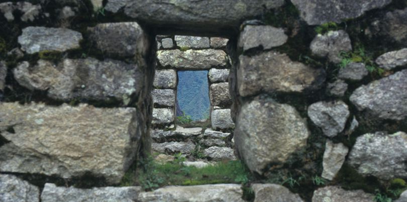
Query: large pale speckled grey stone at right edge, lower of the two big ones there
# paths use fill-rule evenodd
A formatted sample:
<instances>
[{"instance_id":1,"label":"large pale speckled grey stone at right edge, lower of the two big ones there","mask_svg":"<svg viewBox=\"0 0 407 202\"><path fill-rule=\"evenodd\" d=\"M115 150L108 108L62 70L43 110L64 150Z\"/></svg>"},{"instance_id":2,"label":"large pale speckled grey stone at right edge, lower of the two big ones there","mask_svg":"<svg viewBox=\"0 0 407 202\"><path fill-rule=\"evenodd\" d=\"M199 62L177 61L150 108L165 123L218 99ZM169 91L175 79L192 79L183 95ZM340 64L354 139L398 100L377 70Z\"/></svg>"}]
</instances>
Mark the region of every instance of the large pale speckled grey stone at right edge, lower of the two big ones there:
<instances>
[{"instance_id":1,"label":"large pale speckled grey stone at right edge, lower of the two big ones there","mask_svg":"<svg viewBox=\"0 0 407 202\"><path fill-rule=\"evenodd\" d=\"M349 164L364 176L382 180L407 177L407 134L381 132L359 136L349 154Z\"/></svg>"}]
</instances>

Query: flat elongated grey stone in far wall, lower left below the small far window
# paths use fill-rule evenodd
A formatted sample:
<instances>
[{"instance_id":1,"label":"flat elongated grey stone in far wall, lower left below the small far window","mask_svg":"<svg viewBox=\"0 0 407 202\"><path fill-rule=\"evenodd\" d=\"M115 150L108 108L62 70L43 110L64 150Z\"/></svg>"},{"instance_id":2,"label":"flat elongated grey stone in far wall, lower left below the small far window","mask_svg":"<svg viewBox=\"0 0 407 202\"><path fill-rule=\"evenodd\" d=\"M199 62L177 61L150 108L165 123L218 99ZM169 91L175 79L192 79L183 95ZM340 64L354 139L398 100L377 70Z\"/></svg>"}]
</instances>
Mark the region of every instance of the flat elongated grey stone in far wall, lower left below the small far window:
<instances>
[{"instance_id":1,"label":"flat elongated grey stone in far wall, lower left below the small far window","mask_svg":"<svg viewBox=\"0 0 407 202\"><path fill-rule=\"evenodd\" d=\"M192 142L164 142L164 143L152 143L151 147L153 151L175 154L181 152L182 154L190 154L195 145Z\"/></svg>"}]
</instances>

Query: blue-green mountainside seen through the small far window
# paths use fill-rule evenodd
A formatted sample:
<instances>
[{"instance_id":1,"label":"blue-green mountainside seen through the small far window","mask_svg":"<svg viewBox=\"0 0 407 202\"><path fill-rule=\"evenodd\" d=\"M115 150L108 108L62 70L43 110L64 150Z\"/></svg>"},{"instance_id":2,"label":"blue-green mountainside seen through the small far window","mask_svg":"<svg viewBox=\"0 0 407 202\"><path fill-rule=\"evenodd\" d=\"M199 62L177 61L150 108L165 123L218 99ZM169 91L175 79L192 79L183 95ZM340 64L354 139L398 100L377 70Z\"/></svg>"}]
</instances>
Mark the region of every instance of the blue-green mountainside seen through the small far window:
<instances>
[{"instance_id":1,"label":"blue-green mountainside seen through the small far window","mask_svg":"<svg viewBox=\"0 0 407 202\"><path fill-rule=\"evenodd\" d=\"M208 71L178 71L177 100L185 115L192 120L209 117Z\"/></svg>"}]
</instances>

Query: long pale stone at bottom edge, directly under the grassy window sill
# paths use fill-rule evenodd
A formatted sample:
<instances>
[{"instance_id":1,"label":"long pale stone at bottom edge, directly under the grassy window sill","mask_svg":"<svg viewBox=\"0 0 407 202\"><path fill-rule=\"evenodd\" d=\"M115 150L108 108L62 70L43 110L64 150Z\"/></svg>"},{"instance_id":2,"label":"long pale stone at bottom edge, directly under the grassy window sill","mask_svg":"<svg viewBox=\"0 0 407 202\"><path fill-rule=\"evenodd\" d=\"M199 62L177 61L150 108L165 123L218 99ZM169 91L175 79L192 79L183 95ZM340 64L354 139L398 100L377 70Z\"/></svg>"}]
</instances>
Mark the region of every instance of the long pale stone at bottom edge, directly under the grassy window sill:
<instances>
[{"instance_id":1,"label":"long pale stone at bottom edge, directly under the grassy window sill","mask_svg":"<svg viewBox=\"0 0 407 202\"><path fill-rule=\"evenodd\" d=\"M139 194L139 201L218 201L243 202L240 184L204 184L194 186L166 186Z\"/></svg>"}]
</instances>

